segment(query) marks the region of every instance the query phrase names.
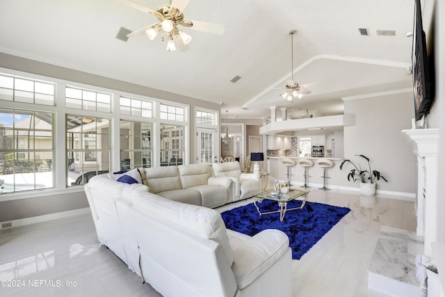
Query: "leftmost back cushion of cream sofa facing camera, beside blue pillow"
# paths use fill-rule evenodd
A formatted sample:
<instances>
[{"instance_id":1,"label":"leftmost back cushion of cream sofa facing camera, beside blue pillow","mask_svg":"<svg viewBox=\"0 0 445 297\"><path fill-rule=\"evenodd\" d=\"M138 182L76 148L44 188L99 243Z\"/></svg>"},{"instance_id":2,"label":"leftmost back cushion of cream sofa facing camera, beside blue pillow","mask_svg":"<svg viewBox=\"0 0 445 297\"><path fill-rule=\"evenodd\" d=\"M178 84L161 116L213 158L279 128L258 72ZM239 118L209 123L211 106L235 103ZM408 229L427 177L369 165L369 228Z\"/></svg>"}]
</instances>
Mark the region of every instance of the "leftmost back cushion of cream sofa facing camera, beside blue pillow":
<instances>
[{"instance_id":1,"label":"leftmost back cushion of cream sofa facing camera, beside blue pillow","mask_svg":"<svg viewBox=\"0 0 445 297\"><path fill-rule=\"evenodd\" d=\"M144 168L147 186L151 193L159 193L182 188L176 166Z\"/></svg>"}]
</instances>

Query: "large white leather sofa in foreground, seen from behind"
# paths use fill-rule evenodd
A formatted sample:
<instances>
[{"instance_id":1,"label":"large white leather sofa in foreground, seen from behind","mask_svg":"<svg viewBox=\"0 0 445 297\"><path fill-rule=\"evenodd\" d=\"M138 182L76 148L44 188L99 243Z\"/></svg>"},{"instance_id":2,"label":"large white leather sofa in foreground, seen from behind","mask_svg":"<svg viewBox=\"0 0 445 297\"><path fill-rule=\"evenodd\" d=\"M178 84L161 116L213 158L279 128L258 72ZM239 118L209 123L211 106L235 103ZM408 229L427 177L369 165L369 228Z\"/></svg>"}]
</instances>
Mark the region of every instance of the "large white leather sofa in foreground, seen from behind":
<instances>
[{"instance_id":1,"label":"large white leather sofa in foreground, seen from behind","mask_svg":"<svg viewBox=\"0 0 445 297\"><path fill-rule=\"evenodd\" d=\"M227 230L216 209L109 175L92 177L85 191L100 243L163 296L291 296L291 249L283 232Z\"/></svg>"}]
</instances>

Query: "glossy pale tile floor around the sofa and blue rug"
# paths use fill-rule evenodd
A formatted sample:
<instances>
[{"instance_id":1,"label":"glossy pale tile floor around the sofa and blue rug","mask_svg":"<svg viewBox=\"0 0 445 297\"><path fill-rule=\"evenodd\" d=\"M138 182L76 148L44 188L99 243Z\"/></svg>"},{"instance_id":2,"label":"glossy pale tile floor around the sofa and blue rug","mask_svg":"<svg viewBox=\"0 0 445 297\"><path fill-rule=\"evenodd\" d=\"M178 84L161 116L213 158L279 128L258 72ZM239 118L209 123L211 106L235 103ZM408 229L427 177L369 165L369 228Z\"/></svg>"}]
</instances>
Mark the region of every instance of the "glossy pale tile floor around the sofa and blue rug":
<instances>
[{"instance_id":1,"label":"glossy pale tile floor around the sofa and blue rug","mask_svg":"<svg viewBox=\"0 0 445 297\"><path fill-rule=\"evenodd\" d=\"M414 203L309 190L309 201L351 211L293 261L293 296L386 296L368 288L375 243L381 226L415 230ZM90 215L1 230L0 280L0 296L161 296L99 245Z\"/></svg>"}]
</instances>

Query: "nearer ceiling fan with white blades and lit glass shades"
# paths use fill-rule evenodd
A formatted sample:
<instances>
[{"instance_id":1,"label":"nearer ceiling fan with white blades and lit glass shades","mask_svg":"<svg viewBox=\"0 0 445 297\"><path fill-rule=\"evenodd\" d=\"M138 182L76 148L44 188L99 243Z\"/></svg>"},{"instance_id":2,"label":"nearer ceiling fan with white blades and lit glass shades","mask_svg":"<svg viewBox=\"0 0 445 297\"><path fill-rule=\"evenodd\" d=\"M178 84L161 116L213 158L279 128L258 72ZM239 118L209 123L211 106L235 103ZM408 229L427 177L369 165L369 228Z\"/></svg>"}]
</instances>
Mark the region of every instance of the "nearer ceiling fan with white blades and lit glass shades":
<instances>
[{"instance_id":1,"label":"nearer ceiling fan with white blades and lit glass shades","mask_svg":"<svg viewBox=\"0 0 445 297\"><path fill-rule=\"evenodd\" d=\"M190 0L170 0L170 5L160 6L156 10L151 10L130 0L122 1L132 8L154 15L159 20L157 23L129 33L127 37L134 38L147 34L150 40L154 40L154 38L161 33L162 40L164 40L164 37L168 38L168 51L175 51L176 47L178 47L180 51L188 50L188 42L190 42L192 38L180 29L180 26L213 34L221 35L224 33L223 25L184 19L182 11L186 8Z\"/></svg>"}]
</instances>

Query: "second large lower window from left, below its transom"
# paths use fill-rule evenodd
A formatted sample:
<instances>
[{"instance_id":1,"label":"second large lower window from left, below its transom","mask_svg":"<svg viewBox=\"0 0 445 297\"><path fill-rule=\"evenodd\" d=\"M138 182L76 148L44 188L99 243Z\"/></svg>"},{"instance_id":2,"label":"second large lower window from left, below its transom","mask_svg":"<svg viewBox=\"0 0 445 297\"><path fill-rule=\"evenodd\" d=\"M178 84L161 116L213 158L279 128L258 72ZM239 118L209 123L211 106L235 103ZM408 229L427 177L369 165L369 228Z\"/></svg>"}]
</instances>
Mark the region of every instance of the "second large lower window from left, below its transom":
<instances>
[{"instance_id":1,"label":"second large lower window from left, below its transom","mask_svg":"<svg viewBox=\"0 0 445 297\"><path fill-rule=\"evenodd\" d=\"M106 118L66 115L67 186L85 184L110 170L110 125Z\"/></svg>"}]
</instances>

